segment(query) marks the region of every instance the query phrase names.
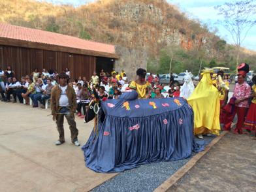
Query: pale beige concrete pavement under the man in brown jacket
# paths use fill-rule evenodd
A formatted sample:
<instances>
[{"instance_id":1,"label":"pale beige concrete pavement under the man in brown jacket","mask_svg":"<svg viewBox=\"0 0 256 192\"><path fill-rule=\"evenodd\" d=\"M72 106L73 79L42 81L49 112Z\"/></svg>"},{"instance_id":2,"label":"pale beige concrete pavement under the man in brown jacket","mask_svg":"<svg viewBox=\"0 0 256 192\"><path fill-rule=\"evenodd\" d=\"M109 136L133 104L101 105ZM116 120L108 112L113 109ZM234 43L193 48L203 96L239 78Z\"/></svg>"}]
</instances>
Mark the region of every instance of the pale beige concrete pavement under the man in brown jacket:
<instances>
[{"instance_id":1,"label":"pale beige concrete pavement under the man in brown jacket","mask_svg":"<svg viewBox=\"0 0 256 192\"><path fill-rule=\"evenodd\" d=\"M71 144L67 123L65 144L50 110L0 102L0 191L89 191L116 174L99 174L84 164L80 147ZM93 124L76 118L84 144Z\"/></svg>"}]
</instances>

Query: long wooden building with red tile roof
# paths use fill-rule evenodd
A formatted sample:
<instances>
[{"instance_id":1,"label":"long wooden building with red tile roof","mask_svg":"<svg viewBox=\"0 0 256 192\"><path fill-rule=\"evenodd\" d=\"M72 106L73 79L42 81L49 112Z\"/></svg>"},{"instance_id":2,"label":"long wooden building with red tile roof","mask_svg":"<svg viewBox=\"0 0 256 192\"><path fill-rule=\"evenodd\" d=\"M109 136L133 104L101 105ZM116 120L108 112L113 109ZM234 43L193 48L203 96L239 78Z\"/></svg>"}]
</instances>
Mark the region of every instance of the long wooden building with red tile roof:
<instances>
[{"instance_id":1,"label":"long wooden building with red tile roof","mask_svg":"<svg viewBox=\"0 0 256 192\"><path fill-rule=\"evenodd\" d=\"M0 24L0 67L8 65L20 79L34 69L54 69L62 72L66 67L71 78L86 76L101 69L110 72L118 59L115 46L83 40L38 29Z\"/></svg>"}]
</instances>

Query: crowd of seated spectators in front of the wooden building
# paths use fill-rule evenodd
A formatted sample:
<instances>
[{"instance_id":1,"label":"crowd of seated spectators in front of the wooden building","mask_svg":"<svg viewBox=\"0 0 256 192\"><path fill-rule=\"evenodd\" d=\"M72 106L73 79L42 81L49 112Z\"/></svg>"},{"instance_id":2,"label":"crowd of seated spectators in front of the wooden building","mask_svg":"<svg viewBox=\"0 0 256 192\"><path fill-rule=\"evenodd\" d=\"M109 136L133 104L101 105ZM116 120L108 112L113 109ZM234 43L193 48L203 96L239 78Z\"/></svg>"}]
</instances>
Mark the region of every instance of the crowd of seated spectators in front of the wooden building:
<instances>
[{"instance_id":1,"label":"crowd of seated spectators in front of the wooden building","mask_svg":"<svg viewBox=\"0 0 256 192\"><path fill-rule=\"evenodd\" d=\"M66 68L63 72L70 76L70 71ZM15 77L15 72L11 67L5 71L0 68L0 93L1 101L10 102L11 96L13 103L17 101L29 105L32 101L33 107L45 108L46 101L50 99L52 88L57 84L57 72L50 69L42 69L40 72L35 69L31 74L22 76L19 80ZM101 70L99 76L93 73L88 81L85 76L79 76L70 82L74 88L77 101L77 115L84 118L87 106L93 99L93 87L98 91L101 100L118 99L120 95L129 89L129 84L125 71L112 71L111 74ZM159 84L159 79L154 78L151 81L150 98L179 97L179 86L165 86ZM31 102L30 102L31 103Z\"/></svg>"}]
</instances>

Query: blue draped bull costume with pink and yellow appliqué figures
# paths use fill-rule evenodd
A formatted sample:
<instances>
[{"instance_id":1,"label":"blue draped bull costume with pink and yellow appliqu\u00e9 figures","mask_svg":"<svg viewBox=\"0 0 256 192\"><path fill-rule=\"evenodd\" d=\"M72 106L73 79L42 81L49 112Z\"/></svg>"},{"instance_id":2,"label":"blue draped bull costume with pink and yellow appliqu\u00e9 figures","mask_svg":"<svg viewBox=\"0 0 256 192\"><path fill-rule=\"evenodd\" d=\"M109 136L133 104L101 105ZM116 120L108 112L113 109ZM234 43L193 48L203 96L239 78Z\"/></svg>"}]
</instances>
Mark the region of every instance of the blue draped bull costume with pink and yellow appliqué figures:
<instances>
[{"instance_id":1,"label":"blue draped bull costume with pink and yellow appliqu\u00e9 figures","mask_svg":"<svg viewBox=\"0 0 256 192\"><path fill-rule=\"evenodd\" d=\"M130 89L119 99L89 104L85 121L95 127L82 147L86 166L120 172L146 163L185 159L202 145L193 138L193 110L182 98L138 99Z\"/></svg>"}]
</instances>

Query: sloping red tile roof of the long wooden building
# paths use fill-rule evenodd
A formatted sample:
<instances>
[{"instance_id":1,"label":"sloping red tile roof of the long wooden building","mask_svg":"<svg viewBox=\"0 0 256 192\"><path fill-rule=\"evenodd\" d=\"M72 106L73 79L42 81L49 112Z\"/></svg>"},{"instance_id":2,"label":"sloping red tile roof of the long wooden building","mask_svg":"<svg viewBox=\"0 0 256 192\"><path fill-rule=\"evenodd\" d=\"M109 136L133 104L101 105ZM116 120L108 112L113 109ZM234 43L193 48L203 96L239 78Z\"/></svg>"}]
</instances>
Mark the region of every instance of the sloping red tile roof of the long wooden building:
<instances>
[{"instance_id":1,"label":"sloping red tile roof of the long wooden building","mask_svg":"<svg viewBox=\"0 0 256 192\"><path fill-rule=\"evenodd\" d=\"M76 48L88 50L91 52L103 52L106 54L115 54L115 46L91 40L79 39L59 33L31 29L16 25L0 23L0 37L8 39L25 40L27 42L38 42L40 44L50 44L55 46L64 46L67 48Z\"/></svg>"}]
</instances>

